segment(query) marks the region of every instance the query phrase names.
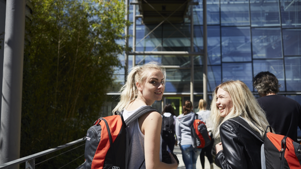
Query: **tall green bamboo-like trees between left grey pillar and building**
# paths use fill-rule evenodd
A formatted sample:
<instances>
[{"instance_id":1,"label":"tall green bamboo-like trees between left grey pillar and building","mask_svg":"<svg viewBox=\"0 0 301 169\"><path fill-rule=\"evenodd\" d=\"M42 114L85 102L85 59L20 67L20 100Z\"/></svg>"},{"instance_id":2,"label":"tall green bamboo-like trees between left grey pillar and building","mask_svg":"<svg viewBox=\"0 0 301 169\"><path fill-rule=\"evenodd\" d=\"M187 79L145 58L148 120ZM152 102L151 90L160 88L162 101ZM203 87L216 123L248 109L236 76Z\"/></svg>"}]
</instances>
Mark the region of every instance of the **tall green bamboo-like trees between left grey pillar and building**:
<instances>
[{"instance_id":1,"label":"tall green bamboo-like trees between left grey pillar and building","mask_svg":"<svg viewBox=\"0 0 301 169\"><path fill-rule=\"evenodd\" d=\"M121 66L117 56L124 46L116 40L124 39L129 24L119 0L32 4L32 20L26 21L21 156L85 135L98 118L114 67ZM58 167L44 163L39 165Z\"/></svg>"}]
</instances>

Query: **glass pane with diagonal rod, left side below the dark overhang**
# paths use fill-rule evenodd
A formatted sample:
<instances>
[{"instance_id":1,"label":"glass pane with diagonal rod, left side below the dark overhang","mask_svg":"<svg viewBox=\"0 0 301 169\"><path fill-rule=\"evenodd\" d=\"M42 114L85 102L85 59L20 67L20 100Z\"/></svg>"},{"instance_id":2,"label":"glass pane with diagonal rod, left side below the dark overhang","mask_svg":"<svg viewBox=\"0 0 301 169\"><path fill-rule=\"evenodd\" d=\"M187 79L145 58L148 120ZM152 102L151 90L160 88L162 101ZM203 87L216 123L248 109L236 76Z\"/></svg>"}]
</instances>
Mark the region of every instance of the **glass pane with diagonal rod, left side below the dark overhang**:
<instances>
[{"instance_id":1,"label":"glass pane with diagonal rod, left side below the dark overhang","mask_svg":"<svg viewBox=\"0 0 301 169\"><path fill-rule=\"evenodd\" d=\"M162 25L157 27L146 38L141 40L145 35L147 35L150 31L152 31L156 26L157 25L136 25L136 51L161 51L161 49L162 49ZM130 31L132 31L132 29L130 29ZM129 43L131 43L131 42L132 42L132 40L129 40Z\"/></svg>"}]
</instances>

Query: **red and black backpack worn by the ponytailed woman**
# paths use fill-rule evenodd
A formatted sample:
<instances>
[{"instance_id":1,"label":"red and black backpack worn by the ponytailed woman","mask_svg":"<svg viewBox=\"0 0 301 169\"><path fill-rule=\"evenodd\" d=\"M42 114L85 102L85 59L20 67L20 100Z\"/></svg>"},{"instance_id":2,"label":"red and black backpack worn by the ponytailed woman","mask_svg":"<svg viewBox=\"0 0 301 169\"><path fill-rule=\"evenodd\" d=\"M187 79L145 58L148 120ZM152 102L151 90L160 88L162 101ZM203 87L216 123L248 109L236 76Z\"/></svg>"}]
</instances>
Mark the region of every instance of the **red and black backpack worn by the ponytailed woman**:
<instances>
[{"instance_id":1,"label":"red and black backpack worn by the ponytailed woman","mask_svg":"<svg viewBox=\"0 0 301 169\"><path fill-rule=\"evenodd\" d=\"M126 169L129 151L126 127L150 111L158 110L151 106L143 106L125 121L121 113L98 118L84 137L84 168ZM144 161L141 162L143 164Z\"/></svg>"}]
</instances>

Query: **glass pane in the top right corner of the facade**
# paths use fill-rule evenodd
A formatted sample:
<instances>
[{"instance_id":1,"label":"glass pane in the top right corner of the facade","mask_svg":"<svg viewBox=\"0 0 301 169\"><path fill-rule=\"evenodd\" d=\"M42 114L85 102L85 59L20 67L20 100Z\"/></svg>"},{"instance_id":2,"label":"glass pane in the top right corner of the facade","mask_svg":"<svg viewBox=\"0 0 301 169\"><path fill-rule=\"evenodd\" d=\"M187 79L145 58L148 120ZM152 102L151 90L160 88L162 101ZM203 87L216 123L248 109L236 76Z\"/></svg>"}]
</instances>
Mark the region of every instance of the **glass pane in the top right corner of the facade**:
<instances>
[{"instance_id":1,"label":"glass pane in the top right corner of the facade","mask_svg":"<svg viewBox=\"0 0 301 169\"><path fill-rule=\"evenodd\" d=\"M301 4L299 0L280 0L282 27L300 27Z\"/></svg>"}]
</instances>

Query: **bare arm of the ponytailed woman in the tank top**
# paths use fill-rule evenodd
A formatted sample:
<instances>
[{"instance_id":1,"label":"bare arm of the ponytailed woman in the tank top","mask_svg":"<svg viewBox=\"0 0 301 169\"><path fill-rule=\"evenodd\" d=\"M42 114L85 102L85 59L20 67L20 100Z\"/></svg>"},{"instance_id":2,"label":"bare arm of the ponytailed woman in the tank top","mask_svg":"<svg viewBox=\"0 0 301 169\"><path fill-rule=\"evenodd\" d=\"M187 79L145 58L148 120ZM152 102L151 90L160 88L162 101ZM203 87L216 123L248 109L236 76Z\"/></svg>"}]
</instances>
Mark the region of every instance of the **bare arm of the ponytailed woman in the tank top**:
<instances>
[{"instance_id":1,"label":"bare arm of the ponytailed woman in the tank top","mask_svg":"<svg viewBox=\"0 0 301 169\"><path fill-rule=\"evenodd\" d=\"M142 124L140 120L143 121ZM156 111L146 113L139 118L139 125L142 133L144 134L144 156L146 168L177 168L178 163L171 154L171 164L160 161L162 116Z\"/></svg>"}]
</instances>

